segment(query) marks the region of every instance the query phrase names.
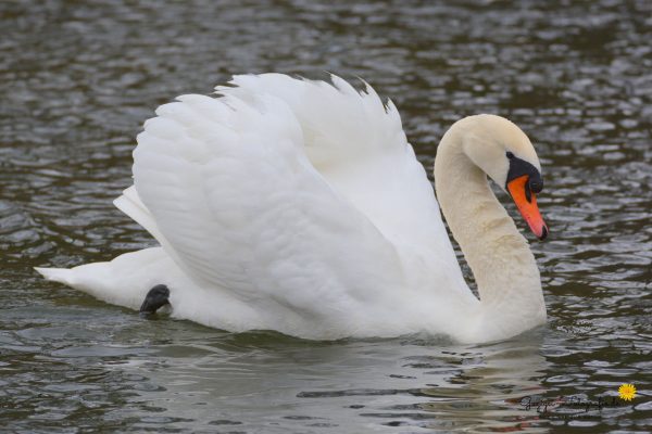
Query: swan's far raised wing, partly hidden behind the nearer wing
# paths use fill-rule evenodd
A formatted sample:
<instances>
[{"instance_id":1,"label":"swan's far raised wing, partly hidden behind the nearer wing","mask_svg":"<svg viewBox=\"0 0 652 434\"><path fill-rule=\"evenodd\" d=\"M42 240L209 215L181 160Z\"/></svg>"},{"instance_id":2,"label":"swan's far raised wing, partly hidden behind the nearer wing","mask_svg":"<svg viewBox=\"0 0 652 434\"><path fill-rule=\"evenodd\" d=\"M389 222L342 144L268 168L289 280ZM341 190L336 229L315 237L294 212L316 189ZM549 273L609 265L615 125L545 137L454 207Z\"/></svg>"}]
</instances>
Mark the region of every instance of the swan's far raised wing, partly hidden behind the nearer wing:
<instances>
[{"instance_id":1,"label":"swan's far raised wing, partly hidden behind the nearer wing","mask_svg":"<svg viewBox=\"0 0 652 434\"><path fill-rule=\"evenodd\" d=\"M456 273L457 286L466 291L432 186L398 110L366 84L359 92L337 76L331 79L333 85L284 74L241 75L217 91L249 104L261 94L283 100L301 126L310 162L328 184L393 244L427 254L430 270Z\"/></svg>"}]
</instances>

